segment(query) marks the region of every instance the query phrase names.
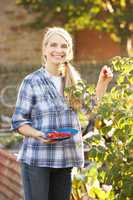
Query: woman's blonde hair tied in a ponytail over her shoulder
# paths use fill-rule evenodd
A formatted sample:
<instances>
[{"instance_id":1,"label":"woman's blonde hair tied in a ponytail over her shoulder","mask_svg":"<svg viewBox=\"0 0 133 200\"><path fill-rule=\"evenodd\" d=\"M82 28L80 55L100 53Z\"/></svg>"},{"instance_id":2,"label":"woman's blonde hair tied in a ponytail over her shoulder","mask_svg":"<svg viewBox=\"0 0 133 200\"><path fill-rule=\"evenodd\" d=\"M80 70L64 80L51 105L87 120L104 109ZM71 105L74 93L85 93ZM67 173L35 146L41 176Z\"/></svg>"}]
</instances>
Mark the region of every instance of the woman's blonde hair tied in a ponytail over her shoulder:
<instances>
[{"instance_id":1,"label":"woman's blonde hair tied in a ponytail over her shoulder","mask_svg":"<svg viewBox=\"0 0 133 200\"><path fill-rule=\"evenodd\" d=\"M81 78L77 70L70 63L70 61L73 59L73 41L72 41L71 35L65 29L60 28L60 27L50 27L50 28L45 29L44 38L42 42L42 65L45 66L45 63L46 63L46 59L44 57L45 47L47 46L49 39L54 34L58 34L61 37L63 37L64 40L67 42L68 48L69 48L66 61L59 68L60 73L65 79L64 87L68 88L71 86L76 86L76 84L78 83L78 81L81 80ZM76 100L74 100L74 97L72 97L71 95L67 95L66 98L69 101L71 107L76 110L77 102Z\"/></svg>"}]
</instances>

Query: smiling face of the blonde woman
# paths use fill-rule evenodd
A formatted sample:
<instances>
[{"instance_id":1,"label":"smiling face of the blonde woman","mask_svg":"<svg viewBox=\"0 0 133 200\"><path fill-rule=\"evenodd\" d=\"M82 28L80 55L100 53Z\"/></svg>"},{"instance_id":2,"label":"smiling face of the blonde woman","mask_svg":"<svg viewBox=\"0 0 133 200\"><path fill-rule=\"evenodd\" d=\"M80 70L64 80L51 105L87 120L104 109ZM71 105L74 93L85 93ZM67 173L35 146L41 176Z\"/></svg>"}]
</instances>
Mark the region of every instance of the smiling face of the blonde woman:
<instances>
[{"instance_id":1,"label":"smiling face of the blonde woman","mask_svg":"<svg viewBox=\"0 0 133 200\"><path fill-rule=\"evenodd\" d=\"M44 51L47 65L58 66L66 61L69 46L63 37L54 34L50 37Z\"/></svg>"}]
</instances>

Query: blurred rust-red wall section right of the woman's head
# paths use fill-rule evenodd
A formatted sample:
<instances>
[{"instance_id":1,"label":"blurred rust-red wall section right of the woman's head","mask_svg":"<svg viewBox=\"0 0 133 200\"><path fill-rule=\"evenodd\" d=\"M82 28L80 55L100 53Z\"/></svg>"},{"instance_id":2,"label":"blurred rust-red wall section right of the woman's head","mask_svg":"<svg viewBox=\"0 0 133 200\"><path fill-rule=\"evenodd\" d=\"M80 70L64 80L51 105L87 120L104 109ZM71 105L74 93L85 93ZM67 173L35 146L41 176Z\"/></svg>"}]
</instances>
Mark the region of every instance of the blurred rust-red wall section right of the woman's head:
<instances>
[{"instance_id":1,"label":"blurred rust-red wall section right of the woman's head","mask_svg":"<svg viewBox=\"0 0 133 200\"><path fill-rule=\"evenodd\" d=\"M104 61L121 55L119 43L114 42L109 34L84 29L75 34L75 58L81 60Z\"/></svg>"}]
</instances>

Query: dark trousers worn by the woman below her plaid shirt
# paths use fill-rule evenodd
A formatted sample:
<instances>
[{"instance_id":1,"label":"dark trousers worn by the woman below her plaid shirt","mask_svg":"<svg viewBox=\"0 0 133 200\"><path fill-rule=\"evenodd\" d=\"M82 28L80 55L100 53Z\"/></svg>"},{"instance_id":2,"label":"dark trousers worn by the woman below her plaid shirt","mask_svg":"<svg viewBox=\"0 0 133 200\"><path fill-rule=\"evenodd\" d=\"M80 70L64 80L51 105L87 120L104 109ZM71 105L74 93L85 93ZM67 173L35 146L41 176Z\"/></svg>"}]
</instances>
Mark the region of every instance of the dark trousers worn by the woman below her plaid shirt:
<instances>
[{"instance_id":1,"label":"dark trousers worn by the woman below her plaid shirt","mask_svg":"<svg viewBox=\"0 0 133 200\"><path fill-rule=\"evenodd\" d=\"M70 200L72 168L21 167L25 200Z\"/></svg>"}]
</instances>

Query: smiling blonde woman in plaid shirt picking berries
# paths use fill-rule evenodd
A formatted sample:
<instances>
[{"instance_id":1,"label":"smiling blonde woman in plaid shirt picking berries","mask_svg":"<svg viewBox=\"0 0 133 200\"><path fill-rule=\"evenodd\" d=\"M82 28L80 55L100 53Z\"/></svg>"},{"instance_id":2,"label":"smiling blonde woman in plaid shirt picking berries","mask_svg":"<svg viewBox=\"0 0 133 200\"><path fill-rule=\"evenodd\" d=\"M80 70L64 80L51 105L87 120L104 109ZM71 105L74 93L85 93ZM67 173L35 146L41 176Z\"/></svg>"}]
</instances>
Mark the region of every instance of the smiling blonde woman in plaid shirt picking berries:
<instances>
[{"instance_id":1,"label":"smiling blonde woman in plaid shirt picking berries","mask_svg":"<svg viewBox=\"0 0 133 200\"><path fill-rule=\"evenodd\" d=\"M80 80L70 65L72 58L70 34L62 28L48 28L42 44L42 66L24 78L19 89L12 126L25 136L18 155L25 200L69 200L71 170L84 164L80 123L74 105L68 105L63 95L66 86ZM111 70L103 67L97 98L103 96L111 79ZM76 128L79 134L60 142L47 139L46 131L57 128Z\"/></svg>"}]
</instances>

